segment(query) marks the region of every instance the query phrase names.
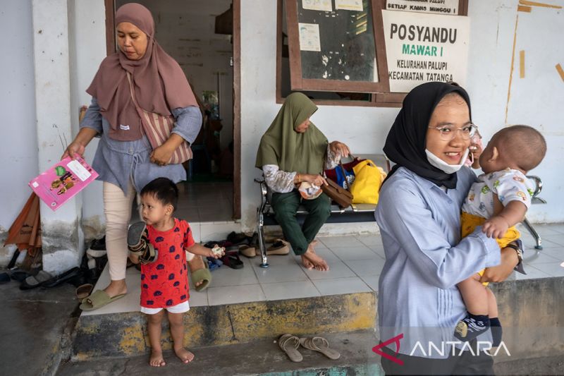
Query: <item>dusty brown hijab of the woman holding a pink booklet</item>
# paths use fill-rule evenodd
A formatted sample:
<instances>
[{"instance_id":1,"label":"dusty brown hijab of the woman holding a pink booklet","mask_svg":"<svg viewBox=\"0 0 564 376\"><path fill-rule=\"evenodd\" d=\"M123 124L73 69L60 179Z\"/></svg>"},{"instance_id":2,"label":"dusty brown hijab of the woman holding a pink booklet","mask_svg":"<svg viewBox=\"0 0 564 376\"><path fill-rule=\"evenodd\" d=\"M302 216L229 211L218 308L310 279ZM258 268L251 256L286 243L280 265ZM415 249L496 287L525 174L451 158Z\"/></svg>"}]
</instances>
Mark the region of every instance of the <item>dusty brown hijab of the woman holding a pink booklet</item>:
<instances>
[{"instance_id":1,"label":"dusty brown hijab of the woman holding a pink booklet","mask_svg":"<svg viewBox=\"0 0 564 376\"><path fill-rule=\"evenodd\" d=\"M100 64L86 92L98 101L102 116L109 121L109 136L130 141L142 137L141 119L131 99L127 73L131 73L135 99L148 112L169 116L171 109L197 106L182 68L154 40L154 20L149 9L129 3L116 11L116 25L133 23L147 34L147 50L140 60L130 60L118 50ZM124 131L120 125L129 126Z\"/></svg>"}]
</instances>

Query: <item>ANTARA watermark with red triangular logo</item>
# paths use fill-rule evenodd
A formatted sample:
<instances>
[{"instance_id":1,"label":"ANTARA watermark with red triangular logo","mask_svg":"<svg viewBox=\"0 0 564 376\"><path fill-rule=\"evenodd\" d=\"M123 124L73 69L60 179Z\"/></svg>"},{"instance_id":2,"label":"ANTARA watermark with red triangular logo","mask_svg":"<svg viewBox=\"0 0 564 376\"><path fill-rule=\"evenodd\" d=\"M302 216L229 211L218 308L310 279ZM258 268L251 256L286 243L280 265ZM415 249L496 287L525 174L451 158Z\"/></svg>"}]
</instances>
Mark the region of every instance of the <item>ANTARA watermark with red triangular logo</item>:
<instances>
[{"instance_id":1,"label":"ANTARA watermark with red triangular logo","mask_svg":"<svg viewBox=\"0 0 564 376\"><path fill-rule=\"evenodd\" d=\"M398 334L397 336L388 339L387 341L383 341L380 344L374 346L372 351L378 354L382 358L386 358L391 360L394 363L398 363L399 365L403 365L403 360L396 358L400 351L400 339L403 339L403 333ZM389 344L396 344L396 356L391 356L388 353L384 353L382 348L384 346L388 346ZM461 345L457 347L457 345ZM491 349L492 346L491 341L476 341L475 345L472 346L470 342L462 342L462 341L441 341L439 345L435 344L432 341L427 343L427 346L424 346L424 342L417 341L413 345L409 356L424 356L424 357L432 357L432 356L461 356L462 353L465 351L470 351L471 356L479 356L480 353L484 353L489 356L497 356L503 350L506 356L511 356L509 349L505 345L503 341L497 346L496 350L492 353Z\"/></svg>"}]
</instances>

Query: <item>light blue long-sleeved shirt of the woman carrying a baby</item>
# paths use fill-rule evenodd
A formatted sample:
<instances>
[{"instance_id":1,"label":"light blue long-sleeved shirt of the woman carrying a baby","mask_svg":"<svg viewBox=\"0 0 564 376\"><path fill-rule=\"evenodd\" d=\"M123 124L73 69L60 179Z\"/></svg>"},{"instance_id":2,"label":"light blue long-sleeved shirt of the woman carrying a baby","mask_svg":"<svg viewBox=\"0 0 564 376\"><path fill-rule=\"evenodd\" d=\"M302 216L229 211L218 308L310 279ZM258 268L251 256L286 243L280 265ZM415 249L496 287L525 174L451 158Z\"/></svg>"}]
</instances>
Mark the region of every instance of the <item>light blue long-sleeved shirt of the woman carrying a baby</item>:
<instances>
[{"instance_id":1,"label":"light blue long-sleeved shirt of the woman carrying a baby","mask_svg":"<svg viewBox=\"0 0 564 376\"><path fill-rule=\"evenodd\" d=\"M460 240L460 207L475 180L462 167L456 188L447 190L400 167L381 188L375 212L386 253L378 293L380 338L403 334L400 353L452 353L446 342L458 341L454 329L466 313L456 284L501 261L496 240L481 226ZM430 341L445 346L444 355L429 355ZM394 344L388 347L396 351Z\"/></svg>"}]
</instances>

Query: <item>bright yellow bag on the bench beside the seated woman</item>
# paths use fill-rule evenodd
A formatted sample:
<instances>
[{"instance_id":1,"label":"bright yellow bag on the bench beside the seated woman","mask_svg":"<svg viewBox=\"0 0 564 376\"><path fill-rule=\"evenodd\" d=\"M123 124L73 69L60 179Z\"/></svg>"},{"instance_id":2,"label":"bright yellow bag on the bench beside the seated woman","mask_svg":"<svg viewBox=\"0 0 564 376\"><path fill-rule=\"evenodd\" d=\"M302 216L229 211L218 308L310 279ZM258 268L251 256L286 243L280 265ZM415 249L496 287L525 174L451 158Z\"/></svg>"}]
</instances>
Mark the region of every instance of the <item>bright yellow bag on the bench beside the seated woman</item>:
<instances>
[{"instance_id":1,"label":"bright yellow bag on the bench beside the seated woman","mask_svg":"<svg viewBox=\"0 0 564 376\"><path fill-rule=\"evenodd\" d=\"M380 186L386 173L370 159L365 159L353 167L355 181L350 186L353 204L377 204Z\"/></svg>"}]
</instances>

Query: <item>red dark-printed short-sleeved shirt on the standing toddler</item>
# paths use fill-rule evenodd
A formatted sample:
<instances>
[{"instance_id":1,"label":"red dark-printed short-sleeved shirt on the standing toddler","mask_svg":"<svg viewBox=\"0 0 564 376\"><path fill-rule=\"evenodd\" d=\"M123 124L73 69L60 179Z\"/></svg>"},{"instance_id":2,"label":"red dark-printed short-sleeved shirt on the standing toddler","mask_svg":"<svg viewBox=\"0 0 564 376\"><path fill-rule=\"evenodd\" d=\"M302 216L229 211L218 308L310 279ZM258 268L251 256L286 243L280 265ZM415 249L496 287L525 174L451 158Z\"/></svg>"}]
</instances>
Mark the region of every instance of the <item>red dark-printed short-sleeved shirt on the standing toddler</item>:
<instances>
[{"instance_id":1,"label":"red dark-printed short-sleeved shirt on the standing toddler","mask_svg":"<svg viewBox=\"0 0 564 376\"><path fill-rule=\"evenodd\" d=\"M195 243L190 225L175 218L168 231L157 231L150 225L147 231L158 255L154 262L141 265L141 306L167 308L188 301L185 249Z\"/></svg>"}]
</instances>

